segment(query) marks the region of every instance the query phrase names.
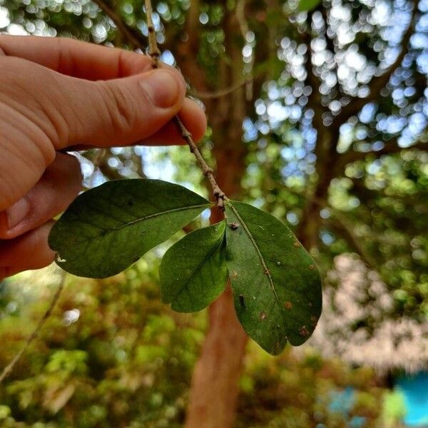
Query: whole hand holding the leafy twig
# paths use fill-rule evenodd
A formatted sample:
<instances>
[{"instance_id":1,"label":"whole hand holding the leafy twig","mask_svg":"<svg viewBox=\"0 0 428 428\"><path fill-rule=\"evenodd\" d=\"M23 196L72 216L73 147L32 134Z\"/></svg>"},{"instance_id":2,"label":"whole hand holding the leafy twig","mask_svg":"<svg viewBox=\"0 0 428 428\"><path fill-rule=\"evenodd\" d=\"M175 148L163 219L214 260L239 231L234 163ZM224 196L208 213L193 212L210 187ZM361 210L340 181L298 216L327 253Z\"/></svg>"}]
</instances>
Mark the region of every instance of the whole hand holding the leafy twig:
<instances>
[{"instance_id":1,"label":"whole hand holding the leafy twig","mask_svg":"<svg viewBox=\"0 0 428 428\"><path fill-rule=\"evenodd\" d=\"M0 280L54 260L52 218L81 190L76 146L184 144L205 113L151 58L72 39L0 35Z\"/></svg>"}]
</instances>

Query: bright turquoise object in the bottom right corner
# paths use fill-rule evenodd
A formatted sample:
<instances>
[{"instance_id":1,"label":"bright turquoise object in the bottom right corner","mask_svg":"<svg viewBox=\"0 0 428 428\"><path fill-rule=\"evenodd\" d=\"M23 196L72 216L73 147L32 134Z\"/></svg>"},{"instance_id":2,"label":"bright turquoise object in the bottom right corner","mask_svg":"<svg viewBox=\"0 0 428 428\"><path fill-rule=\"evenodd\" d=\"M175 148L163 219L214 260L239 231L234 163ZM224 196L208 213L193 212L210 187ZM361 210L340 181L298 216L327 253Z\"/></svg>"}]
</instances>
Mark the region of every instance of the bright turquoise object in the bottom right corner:
<instances>
[{"instance_id":1,"label":"bright turquoise object in the bottom right corner","mask_svg":"<svg viewBox=\"0 0 428 428\"><path fill-rule=\"evenodd\" d=\"M397 378L397 388L404 395L408 427L428 428L428 372Z\"/></svg>"}]
</instances>

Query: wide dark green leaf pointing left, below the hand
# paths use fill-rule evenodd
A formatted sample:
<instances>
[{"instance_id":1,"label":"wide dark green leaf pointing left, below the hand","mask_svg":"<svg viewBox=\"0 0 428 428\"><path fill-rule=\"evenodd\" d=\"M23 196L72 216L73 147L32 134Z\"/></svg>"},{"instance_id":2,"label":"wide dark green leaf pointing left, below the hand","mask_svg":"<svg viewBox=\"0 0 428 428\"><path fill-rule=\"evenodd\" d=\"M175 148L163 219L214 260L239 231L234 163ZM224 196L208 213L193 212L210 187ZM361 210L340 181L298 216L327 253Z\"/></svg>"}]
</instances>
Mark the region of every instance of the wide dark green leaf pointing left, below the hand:
<instances>
[{"instance_id":1,"label":"wide dark green leaf pointing left, below the hand","mask_svg":"<svg viewBox=\"0 0 428 428\"><path fill-rule=\"evenodd\" d=\"M116 180L78 196L58 220L49 245L56 263L84 277L109 277L190 223L210 203L161 180Z\"/></svg>"}]
</instances>

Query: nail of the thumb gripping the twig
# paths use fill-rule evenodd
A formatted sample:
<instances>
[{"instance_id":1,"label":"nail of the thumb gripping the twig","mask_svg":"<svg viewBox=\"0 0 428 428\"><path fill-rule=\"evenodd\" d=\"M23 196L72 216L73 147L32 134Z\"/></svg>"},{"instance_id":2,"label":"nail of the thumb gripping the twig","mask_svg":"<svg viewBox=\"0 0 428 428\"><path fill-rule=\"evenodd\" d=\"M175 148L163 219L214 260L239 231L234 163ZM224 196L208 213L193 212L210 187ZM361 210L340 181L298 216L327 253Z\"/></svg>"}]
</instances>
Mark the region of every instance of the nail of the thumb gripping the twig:
<instances>
[{"instance_id":1,"label":"nail of the thumb gripping the twig","mask_svg":"<svg viewBox=\"0 0 428 428\"><path fill-rule=\"evenodd\" d=\"M153 103L161 108L173 107L180 95L180 84L178 79L164 70L153 71L141 82L141 86Z\"/></svg>"}]
</instances>

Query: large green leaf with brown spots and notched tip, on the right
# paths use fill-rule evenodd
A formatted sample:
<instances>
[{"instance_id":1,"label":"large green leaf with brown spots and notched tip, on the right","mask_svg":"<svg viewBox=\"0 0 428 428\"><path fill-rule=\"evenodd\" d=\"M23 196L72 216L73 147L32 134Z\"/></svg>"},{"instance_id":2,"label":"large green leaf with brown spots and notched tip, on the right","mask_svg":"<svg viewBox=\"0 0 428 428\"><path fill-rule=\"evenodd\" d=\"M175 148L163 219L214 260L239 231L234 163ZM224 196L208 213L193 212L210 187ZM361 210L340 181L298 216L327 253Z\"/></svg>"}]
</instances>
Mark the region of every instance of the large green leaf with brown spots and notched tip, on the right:
<instances>
[{"instance_id":1,"label":"large green leaf with brown spots and notched tip, on the right","mask_svg":"<svg viewBox=\"0 0 428 428\"><path fill-rule=\"evenodd\" d=\"M226 203L227 263L235 310L244 330L276 355L301 345L320 317L320 275L290 229L251 205Z\"/></svg>"}]
</instances>

